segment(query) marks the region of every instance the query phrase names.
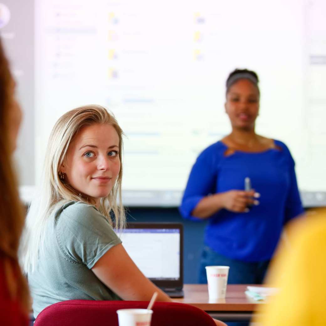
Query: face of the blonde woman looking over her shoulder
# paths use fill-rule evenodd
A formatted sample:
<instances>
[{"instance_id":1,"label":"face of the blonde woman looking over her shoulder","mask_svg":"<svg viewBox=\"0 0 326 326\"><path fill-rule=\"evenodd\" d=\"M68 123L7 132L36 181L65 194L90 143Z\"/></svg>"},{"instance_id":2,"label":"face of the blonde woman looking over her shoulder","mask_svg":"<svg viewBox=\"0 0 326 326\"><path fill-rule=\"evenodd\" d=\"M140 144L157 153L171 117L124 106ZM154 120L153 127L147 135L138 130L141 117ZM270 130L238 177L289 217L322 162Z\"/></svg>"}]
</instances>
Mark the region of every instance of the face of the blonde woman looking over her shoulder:
<instances>
[{"instance_id":1,"label":"face of the blonde woman looking over her shoulder","mask_svg":"<svg viewBox=\"0 0 326 326\"><path fill-rule=\"evenodd\" d=\"M111 125L83 127L70 143L61 171L65 182L99 205L120 171L119 136Z\"/></svg>"}]
</instances>

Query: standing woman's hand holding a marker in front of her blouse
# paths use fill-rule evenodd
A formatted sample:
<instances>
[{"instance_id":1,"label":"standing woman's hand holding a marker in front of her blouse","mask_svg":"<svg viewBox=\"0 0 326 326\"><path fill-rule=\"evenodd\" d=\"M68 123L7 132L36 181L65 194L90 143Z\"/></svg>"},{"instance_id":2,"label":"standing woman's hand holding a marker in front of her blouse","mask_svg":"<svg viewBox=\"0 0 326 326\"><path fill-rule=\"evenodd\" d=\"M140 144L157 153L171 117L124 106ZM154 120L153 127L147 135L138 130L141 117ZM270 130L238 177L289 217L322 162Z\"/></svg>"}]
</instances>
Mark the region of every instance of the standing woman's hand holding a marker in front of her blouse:
<instances>
[{"instance_id":1,"label":"standing woman's hand holding a marker in front of her blouse","mask_svg":"<svg viewBox=\"0 0 326 326\"><path fill-rule=\"evenodd\" d=\"M259 197L259 194L254 189L248 191L230 190L221 195L223 208L231 212L249 212L248 206L259 204L259 201L254 199Z\"/></svg>"}]
</instances>

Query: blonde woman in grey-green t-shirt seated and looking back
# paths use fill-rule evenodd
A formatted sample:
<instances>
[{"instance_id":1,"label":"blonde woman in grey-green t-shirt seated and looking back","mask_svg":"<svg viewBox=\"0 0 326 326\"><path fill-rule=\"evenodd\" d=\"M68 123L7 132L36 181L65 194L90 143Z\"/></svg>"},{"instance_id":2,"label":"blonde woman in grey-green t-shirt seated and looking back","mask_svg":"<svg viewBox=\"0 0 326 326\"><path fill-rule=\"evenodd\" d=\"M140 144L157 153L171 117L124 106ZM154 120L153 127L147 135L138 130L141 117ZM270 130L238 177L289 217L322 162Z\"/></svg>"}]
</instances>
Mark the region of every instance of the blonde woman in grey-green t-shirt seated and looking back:
<instances>
[{"instance_id":1,"label":"blonde woman in grey-green t-shirt seated and looking back","mask_svg":"<svg viewBox=\"0 0 326 326\"><path fill-rule=\"evenodd\" d=\"M22 247L35 317L71 299L147 301L157 291L157 300L171 301L112 228L125 225L122 143L121 128L101 106L71 110L53 127Z\"/></svg>"}]
</instances>

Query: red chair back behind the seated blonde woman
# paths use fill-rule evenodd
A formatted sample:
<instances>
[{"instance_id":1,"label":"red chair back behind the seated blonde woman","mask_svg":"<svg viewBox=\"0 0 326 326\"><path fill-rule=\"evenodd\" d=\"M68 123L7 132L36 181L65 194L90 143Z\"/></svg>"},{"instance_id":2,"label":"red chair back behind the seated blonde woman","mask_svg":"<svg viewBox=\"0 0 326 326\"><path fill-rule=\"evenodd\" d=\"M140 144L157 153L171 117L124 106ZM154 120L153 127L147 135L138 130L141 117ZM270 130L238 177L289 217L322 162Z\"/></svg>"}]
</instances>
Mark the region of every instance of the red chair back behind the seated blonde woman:
<instances>
[{"instance_id":1,"label":"red chair back behind the seated blonde woman","mask_svg":"<svg viewBox=\"0 0 326 326\"><path fill-rule=\"evenodd\" d=\"M147 305L147 301L62 301L43 309L34 326L118 326L118 309ZM151 326L216 326L203 310L188 304L156 302L152 310Z\"/></svg>"}]
</instances>

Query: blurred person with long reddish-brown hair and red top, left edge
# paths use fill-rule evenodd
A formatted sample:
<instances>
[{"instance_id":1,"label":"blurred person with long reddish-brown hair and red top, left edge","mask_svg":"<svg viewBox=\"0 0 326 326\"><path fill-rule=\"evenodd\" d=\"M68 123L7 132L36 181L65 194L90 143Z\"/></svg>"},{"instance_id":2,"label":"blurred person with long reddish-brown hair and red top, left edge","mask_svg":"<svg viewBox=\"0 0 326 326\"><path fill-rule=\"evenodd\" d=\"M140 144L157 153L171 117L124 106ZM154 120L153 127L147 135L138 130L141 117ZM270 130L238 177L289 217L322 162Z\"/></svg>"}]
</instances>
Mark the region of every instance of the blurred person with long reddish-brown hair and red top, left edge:
<instances>
[{"instance_id":1,"label":"blurred person with long reddish-brown hair and red top, left edge","mask_svg":"<svg viewBox=\"0 0 326 326\"><path fill-rule=\"evenodd\" d=\"M28 325L29 293L17 256L24 215L11 163L22 117L14 92L0 42L0 324L23 326Z\"/></svg>"}]
</instances>

